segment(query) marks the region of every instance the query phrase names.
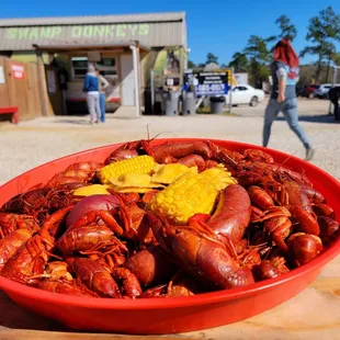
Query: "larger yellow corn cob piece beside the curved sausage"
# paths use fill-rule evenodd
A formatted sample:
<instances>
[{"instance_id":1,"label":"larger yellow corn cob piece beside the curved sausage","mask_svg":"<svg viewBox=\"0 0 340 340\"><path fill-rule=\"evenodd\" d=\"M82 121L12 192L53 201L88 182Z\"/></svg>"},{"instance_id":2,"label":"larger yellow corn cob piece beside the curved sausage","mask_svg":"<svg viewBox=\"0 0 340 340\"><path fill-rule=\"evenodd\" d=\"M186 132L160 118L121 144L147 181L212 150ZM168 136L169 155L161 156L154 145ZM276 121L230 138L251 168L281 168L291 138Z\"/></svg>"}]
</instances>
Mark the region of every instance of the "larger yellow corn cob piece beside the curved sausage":
<instances>
[{"instance_id":1,"label":"larger yellow corn cob piece beside the curved sausage","mask_svg":"<svg viewBox=\"0 0 340 340\"><path fill-rule=\"evenodd\" d=\"M185 225L194 214L211 214L217 193L206 178L188 171L158 193L148 208L170 223Z\"/></svg>"}]
</instances>

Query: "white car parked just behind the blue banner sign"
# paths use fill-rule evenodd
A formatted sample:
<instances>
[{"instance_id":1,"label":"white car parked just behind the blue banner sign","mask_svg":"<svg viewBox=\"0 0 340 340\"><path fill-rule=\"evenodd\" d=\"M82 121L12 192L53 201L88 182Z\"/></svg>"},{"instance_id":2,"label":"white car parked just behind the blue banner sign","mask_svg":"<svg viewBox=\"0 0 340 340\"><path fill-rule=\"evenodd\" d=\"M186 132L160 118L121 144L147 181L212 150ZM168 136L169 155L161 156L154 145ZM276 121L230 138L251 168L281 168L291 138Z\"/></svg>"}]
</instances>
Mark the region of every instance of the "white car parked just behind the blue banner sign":
<instances>
[{"instance_id":1,"label":"white car parked just behind the blue banner sign","mask_svg":"<svg viewBox=\"0 0 340 340\"><path fill-rule=\"evenodd\" d=\"M229 94L225 95L226 104L229 104ZM248 104L256 106L264 99L262 90L254 89L249 84L238 84L233 88L231 103L233 105Z\"/></svg>"}]
</instances>

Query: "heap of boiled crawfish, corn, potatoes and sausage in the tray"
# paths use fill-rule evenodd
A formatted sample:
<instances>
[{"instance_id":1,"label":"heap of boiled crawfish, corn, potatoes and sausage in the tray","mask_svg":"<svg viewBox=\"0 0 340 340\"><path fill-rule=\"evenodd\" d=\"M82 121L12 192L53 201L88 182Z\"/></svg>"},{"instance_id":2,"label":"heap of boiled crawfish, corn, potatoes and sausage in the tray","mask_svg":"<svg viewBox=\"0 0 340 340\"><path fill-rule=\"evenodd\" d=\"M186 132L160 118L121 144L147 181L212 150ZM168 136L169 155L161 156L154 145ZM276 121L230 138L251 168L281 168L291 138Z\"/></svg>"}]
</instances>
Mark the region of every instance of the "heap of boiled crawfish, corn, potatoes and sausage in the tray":
<instances>
[{"instance_id":1,"label":"heap of boiled crawfish, corn, potatoes and sausage in the tray","mask_svg":"<svg viewBox=\"0 0 340 340\"><path fill-rule=\"evenodd\" d=\"M138 140L4 203L0 275L76 296L190 296L277 277L338 237L308 178L264 151Z\"/></svg>"}]
</instances>

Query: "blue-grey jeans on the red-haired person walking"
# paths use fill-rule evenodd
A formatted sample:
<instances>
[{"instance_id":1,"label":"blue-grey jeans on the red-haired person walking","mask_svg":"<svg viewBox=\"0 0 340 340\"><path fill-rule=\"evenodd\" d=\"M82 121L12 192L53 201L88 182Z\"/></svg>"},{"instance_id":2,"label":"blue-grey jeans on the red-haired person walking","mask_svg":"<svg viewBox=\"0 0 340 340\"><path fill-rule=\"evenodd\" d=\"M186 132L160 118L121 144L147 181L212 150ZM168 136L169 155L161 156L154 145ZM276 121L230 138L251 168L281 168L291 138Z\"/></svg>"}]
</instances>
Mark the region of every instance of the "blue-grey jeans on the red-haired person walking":
<instances>
[{"instance_id":1,"label":"blue-grey jeans on the red-haired person walking","mask_svg":"<svg viewBox=\"0 0 340 340\"><path fill-rule=\"evenodd\" d=\"M299 138L306 149L310 148L309 140L305 131L298 124L298 114L297 114L297 99L287 99L282 103L277 103L275 99L271 99L268 103L264 114L264 125L263 125L263 146L267 147L271 127L277 114L282 111L286 122L288 123L291 129Z\"/></svg>"}]
</instances>

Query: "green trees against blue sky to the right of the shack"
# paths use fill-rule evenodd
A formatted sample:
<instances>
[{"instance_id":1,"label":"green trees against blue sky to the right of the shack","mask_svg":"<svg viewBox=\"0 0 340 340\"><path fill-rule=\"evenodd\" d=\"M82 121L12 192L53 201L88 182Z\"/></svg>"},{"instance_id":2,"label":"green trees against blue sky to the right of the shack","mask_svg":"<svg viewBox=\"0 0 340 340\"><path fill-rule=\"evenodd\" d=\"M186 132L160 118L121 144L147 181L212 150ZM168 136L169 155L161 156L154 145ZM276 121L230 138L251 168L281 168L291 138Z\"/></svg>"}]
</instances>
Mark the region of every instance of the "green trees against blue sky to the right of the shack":
<instances>
[{"instance_id":1,"label":"green trees against blue sky to the right of the shack","mask_svg":"<svg viewBox=\"0 0 340 340\"><path fill-rule=\"evenodd\" d=\"M234 67L236 72L248 72L249 80L257 87L262 86L262 81L268 81L270 76L270 64L274 45L280 38L287 38L291 42L297 36L296 26L287 15L281 15L275 24L279 29L277 35L268 37L251 35L246 47L241 52L236 52L228 65L220 65L220 68ZM340 66L340 54L337 52L336 43L340 42L340 15L331 7L321 10L318 15L309 20L307 26L307 45L299 52L299 57L307 55L316 56L317 61L314 67L306 68L307 73L303 72L301 82L311 79L315 82L328 82L331 76L331 66ZM204 68L207 64L218 64L218 57L212 53L207 54L206 63L195 65L191 60L189 68Z\"/></svg>"}]
</instances>

